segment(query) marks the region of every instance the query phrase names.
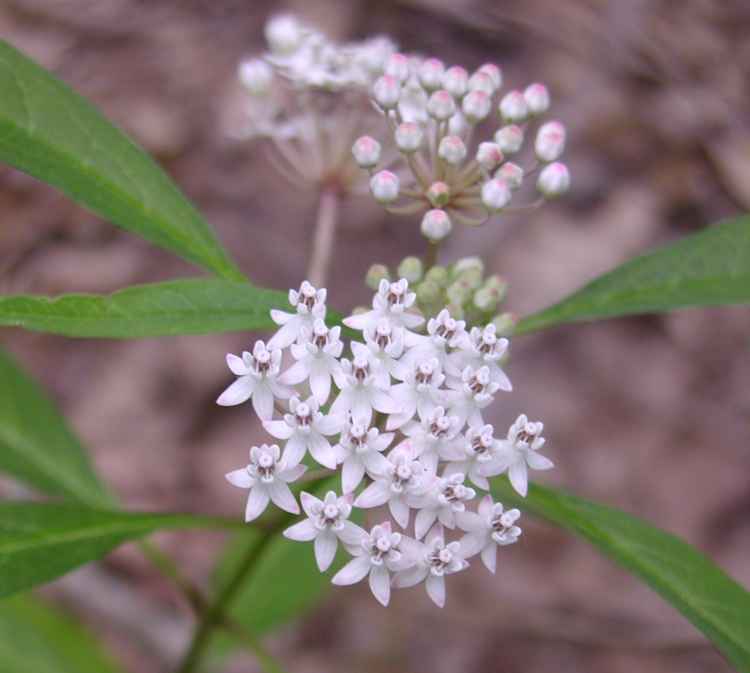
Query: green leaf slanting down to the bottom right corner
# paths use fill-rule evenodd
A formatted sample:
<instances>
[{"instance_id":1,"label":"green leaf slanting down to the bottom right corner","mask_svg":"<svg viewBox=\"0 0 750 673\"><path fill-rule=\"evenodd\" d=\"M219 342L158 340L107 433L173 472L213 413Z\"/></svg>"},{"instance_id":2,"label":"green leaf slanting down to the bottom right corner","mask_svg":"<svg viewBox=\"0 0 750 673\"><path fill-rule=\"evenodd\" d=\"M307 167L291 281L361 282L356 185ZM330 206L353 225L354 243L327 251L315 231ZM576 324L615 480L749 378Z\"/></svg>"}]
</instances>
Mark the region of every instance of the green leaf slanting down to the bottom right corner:
<instances>
[{"instance_id":1,"label":"green leaf slanting down to the bottom right corner","mask_svg":"<svg viewBox=\"0 0 750 673\"><path fill-rule=\"evenodd\" d=\"M491 480L497 500L575 533L649 585L750 671L750 593L681 539L615 507L538 485L526 498L508 479Z\"/></svg>"}]
</instances>

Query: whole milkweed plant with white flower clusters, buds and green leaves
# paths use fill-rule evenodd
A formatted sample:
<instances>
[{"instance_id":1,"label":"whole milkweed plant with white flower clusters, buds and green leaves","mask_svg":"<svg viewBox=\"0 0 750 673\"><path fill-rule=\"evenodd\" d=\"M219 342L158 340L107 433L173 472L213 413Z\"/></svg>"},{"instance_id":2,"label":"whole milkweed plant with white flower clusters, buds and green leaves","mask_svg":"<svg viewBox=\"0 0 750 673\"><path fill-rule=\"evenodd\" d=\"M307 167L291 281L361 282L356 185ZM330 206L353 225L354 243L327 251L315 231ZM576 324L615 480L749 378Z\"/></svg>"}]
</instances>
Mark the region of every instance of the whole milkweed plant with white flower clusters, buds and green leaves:
<instances>
[{"instance_id":1,"label":"whole milkweed plant with white flower clusters, buds and green leaves","mask_svg":"<svg viewBox=\"0 0 750 673\"><path fill-rule=\"evenodd\" d=\"M214 275L110 296L1 296L0 324L110 338L273 328L267 340L227 354L236 379L217 398L223 407L251 406L266 434L260 445L238 447L237 469L226 474L248 491L244 521L122 509L43 392L0 353L0 425L7 429L0 469L52 497L0 503L0 595L154 530L245 527L252 544L239 562L236 550L226 555L224 577L211 589L184 578L153 543L141 548L199 620L178 671L199 666L216 629L278 671L281 663L257 638L272 625L266 611L278 622L305 608L323 584L365 579L384 606L392 589L424 584L442 608L446 577L475 562L495 572L499 548L517 542L527 510L633 572L733 665L750 670L750 596L739 584L646 521L529 484L529 469L553 467L541 422L520 414L507 429L487 423L493 405L508 404L504 368L515 335L747 302L750 259L733 252L750 249L748 218L636 257L517 320L502 311L502 276L488 275L478 256L441 265L439 248L456 227L501 226L503 215L539 209L568 191L571 177L559 161L565 128L550 117L547 87L508 90L496 63L470 72L401 53L383 36L335 44L288 14L272 17L265 35L266 53L239 64L245 107L234 135L262 149L290 185L317 194L308 275L288 294L247 281L142 150L55 77L0 44L0 157ZM393 273L368 260L362 281L374 292L371 305L342 317L327 305L323 286L335 259L339 206L352 198L411 218L404 226L419 227L425 245ZM243 586L254 588L237 608ZM284 598L290 586L294 595ZM0 620L20 620L19 628L46 638L32 612L52 608L29 608L34 599L21 596L0 603ZM57 661L81 670L76 657L84 656L92 670L106 670L91 636L71 628L78 653L52 638ZM13 641L6 649L31 656L23 647ZM40 651L33 656L46 656Z\"/></svg>"}]
</instances>

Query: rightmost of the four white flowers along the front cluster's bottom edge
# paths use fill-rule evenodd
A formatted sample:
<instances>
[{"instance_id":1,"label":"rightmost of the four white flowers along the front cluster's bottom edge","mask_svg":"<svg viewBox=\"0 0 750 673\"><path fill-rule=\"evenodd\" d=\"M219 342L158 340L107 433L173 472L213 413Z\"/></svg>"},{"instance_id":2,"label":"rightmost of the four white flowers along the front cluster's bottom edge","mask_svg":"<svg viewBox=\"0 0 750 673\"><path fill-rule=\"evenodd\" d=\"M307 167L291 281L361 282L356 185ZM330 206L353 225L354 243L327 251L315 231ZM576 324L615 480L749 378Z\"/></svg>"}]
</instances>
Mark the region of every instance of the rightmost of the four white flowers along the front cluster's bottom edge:
<instances>
[{"instance_id":1,"label":"rightmost of the four white flowers along the front cluster's bottom edge","mask_svg":"<svg viewBox=\"0 0 750 673\"><path fill-rule=\"evenodd\" d=\"M487 570L495 572L497 547L517 542L520 528L515 521L520 516L517 509L502 511L502 503L493 503L490 494L479 502L478 512L456 512L456 524L466 531L458 542L460 554L470 558L481 553Z\"/></svg>"}]
</instances>

